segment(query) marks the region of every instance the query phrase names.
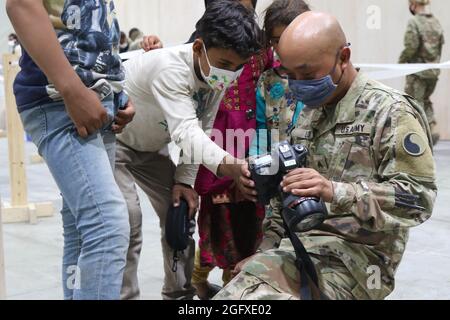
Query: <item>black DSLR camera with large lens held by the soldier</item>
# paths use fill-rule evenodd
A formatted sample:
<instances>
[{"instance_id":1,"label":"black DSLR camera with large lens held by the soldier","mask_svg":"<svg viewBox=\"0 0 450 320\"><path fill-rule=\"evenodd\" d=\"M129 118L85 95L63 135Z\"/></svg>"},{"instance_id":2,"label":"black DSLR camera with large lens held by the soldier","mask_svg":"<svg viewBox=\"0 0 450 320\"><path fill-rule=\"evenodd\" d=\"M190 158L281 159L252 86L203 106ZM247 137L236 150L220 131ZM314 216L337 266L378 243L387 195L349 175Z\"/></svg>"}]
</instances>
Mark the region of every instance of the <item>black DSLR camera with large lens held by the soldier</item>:
<instances>
[{"instance_id":1,"label":"black DSLR camera with large lens held by the soldier","mask_svg":"<svg viewBox=\"0 0 450 320\"><path fill-rule=\"evenodd\" d=\"M271 154L253 157L249 161L259 202L268 205L270 199L280 194L283 201L283 219L292 232L310 231L321 225L328 216L327 207L321 199L284 193L280 186L288 172L306 167L308 154L305 146L292 146L284 141L275 145Z\"/></svg>"}]
</instances>

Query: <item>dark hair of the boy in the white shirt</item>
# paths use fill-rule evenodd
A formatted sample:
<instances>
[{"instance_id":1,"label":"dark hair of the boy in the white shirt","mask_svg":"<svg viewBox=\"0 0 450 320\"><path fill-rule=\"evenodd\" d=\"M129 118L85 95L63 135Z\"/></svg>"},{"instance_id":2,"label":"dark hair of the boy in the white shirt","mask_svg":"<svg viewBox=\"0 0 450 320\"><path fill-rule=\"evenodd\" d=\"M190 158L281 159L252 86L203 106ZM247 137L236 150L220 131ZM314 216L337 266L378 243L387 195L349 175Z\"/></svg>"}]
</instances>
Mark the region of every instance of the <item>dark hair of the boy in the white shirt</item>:
<instances>
[{"instance_id":1,"label":"dark hair of the boy in the white shirt","mask_svg":"<svg viewBox=\"0 0 450 320\"><path fill-rule=\"evenodd\" d=\"M216 0L196 24L196 37L206 48L233 49L241 58L262 49L262 32L255 12L236 0Z\"/></svg>"}]
</instances>

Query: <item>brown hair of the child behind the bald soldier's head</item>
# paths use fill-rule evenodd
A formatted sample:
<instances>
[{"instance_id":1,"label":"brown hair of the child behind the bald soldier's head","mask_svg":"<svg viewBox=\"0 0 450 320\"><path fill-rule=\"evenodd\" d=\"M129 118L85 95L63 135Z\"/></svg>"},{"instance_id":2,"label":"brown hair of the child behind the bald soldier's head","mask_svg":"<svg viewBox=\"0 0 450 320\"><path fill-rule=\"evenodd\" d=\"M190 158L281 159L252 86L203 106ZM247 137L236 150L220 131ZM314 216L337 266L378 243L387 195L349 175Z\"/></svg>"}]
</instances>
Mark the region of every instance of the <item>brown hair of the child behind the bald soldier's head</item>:
<instances>
[{"instance_id":1,"label":"brown hair of the child behind the bald soldier's head","mask_svg":"<svg viewBox=\"0 0 450 320\"><path fill-rule=\"evenodd\" d=\"M303 0L275 0L266 9L264 17L266 46L270 46L270 37L276 27L288 26L299 15L310 10L308 4Z\"/></svg>"}]
</instances>

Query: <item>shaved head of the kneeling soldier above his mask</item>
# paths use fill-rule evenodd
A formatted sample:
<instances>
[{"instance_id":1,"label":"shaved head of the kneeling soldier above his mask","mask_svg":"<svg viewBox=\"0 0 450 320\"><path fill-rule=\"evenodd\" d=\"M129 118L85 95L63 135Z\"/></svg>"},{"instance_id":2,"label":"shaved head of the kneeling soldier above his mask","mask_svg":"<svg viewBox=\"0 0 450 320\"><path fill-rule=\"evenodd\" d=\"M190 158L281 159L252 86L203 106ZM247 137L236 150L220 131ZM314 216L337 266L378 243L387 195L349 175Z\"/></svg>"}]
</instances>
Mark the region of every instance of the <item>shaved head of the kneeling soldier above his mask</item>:
<instances>
[{"instance_id":1,"label":"shaved head of the kneeling soldier above his mask","mask_svg":"<svg viewBox=\"0 0 450 320\"><path fill-rule=\"evenodd\" d=\"M328 102L342 97L357 74L350 62L345 33L339 21L328 13L309 11L298 16L283 32L278 54L292 79L313 80L330 75L339 86Z\"/></svg>"}]
</instances>

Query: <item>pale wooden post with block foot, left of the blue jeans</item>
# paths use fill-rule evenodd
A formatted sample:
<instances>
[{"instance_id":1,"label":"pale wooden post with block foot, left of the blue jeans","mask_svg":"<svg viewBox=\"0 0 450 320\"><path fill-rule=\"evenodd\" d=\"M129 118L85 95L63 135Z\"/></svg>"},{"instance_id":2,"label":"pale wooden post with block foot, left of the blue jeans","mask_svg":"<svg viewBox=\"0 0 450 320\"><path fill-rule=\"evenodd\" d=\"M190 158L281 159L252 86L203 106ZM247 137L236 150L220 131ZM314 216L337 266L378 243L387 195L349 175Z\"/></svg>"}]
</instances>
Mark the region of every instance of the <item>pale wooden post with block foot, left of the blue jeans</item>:
<instances>
[{"instance_id":1,"label":"pale wooden post with block foot, left of the blue jeans","mask_svg":"<svg viewBox=\"0 0 450 320\"><path fill-rule=\"evenodd\" d=\"M37 217L53 215L53 204L28 203L27 178L25 171L25 132L13 93L13 83L19 72L18 57L12 54L3 56L5 82L6 124L9 151L9 177L11 185L11 204L3 208L3 222L36 223Z\"/></svg>"}]
</instances>

